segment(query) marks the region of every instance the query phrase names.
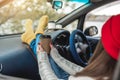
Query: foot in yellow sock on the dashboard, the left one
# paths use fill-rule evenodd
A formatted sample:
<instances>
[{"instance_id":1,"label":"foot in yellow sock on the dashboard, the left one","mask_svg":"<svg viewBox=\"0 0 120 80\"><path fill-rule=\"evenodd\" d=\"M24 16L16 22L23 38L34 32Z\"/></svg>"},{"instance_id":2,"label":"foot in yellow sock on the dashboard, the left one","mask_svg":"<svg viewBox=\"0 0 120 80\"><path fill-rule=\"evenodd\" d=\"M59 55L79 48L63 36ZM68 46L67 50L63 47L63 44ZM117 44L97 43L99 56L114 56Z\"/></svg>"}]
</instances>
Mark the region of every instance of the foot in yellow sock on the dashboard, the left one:
<instances>
[{"instance_id":1,"label":"foot in yellow sock on the dashboard, the left one","mask_svg":"<svg viewBox=\"0 0 120 80\"><path fill-rule=\"evenodd\" d=\"M35 39L35 34L32 28L32 20L28 19L25 23L25 33L22 34L21 39L22 42L30 44L33 39Z\"/></svg>"}]
</instances>

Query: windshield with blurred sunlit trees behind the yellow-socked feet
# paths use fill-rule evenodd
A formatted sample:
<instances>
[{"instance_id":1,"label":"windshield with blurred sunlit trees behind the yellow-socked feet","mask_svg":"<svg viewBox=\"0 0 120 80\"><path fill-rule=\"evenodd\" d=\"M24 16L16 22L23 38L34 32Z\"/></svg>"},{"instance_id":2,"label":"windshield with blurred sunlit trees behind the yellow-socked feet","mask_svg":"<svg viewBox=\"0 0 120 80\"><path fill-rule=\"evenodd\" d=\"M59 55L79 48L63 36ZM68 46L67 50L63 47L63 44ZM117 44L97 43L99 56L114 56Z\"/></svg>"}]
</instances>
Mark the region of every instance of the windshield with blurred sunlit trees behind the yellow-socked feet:
<instances>
[{"instance_id":1,"label":"windshield with blurred sunlit trees behind the yellow-socked feet","mask_svg":"<svg viewBox=\"0 0 120 80\"><path fill-rule=\"evenodd\" d=\"M55 10L48 0L0 0L0 35L24 32L26 19L33 20L34 28L43 15L48 15L50 21L56 21L87 2L63 0L63 7Z\"/></svg>"}]
</instances>

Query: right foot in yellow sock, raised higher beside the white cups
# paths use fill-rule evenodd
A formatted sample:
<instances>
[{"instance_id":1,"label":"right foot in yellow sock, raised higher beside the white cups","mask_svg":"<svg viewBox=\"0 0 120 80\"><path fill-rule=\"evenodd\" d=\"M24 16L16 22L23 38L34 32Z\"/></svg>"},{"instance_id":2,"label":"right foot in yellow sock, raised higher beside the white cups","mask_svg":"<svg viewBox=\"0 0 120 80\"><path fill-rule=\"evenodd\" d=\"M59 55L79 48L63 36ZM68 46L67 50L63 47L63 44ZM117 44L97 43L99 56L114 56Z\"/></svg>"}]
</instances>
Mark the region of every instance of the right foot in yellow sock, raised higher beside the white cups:
<instances>
[{"instance_id":1,"label":"right foot in yellow sock, raised higher beside the white cups","mask_svg":"<svg viewBox=\"0 0 120 80\"><path fill-rule=\"evenodd\" d=\"M44 33L44 30L45 30L45 28L47 27L47 24L48 24L48 19L49 18L48 18L47 15L44 15L40 18L38 27L37 27L36 32L35 32L35 35Z\"/></svg>"}]
</instances>

